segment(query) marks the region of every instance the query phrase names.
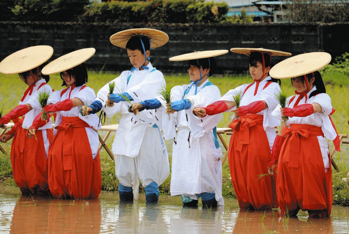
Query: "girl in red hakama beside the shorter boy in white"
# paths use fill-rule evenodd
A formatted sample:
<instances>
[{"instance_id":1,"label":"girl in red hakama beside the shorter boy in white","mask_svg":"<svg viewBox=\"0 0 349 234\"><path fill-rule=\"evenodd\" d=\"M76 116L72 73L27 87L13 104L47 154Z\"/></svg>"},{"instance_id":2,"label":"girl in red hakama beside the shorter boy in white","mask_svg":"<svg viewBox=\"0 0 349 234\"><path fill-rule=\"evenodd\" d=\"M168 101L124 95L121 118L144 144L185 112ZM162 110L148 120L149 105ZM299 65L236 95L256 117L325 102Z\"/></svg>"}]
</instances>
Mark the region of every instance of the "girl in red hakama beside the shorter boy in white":
<instances>
[{"instance_id":1,"label":"girl in red hakama beside the shorter boy in white","mask_svg":"<svg viewBox=\"0 0 349 234\"><path fill-rule=\"evenodd\" d=\"M230 138L228 160L231 180L240 208L270 209L277 207L274 177L257 180L265 173L271 159L271 148L276 136L274 127L280 122L271 112L277 106L276 94L280 86L268 72L272 55L290 55L268 49L232 48L231 51L250 54L250 74L254 83L230 90L220 100L206 108L196 108L194 114L215 115L227 110L235 112L229 127L234 129ZM247 51L247 52L246 52ZM236 108L234 95L240 93L240 106ZM196 112L196 113L195 113Z\"/></svg>"}]
</instances>

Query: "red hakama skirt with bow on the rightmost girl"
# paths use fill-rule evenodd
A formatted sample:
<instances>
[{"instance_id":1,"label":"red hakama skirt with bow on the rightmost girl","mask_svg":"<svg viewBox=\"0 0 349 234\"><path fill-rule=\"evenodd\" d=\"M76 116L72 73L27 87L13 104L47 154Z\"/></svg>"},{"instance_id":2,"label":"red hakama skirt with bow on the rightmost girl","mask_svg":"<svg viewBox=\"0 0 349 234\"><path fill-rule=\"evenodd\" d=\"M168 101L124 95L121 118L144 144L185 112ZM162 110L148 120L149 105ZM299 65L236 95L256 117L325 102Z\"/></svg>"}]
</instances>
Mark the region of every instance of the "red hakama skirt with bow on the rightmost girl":
<instances>
[{"instance_id":1,"label":"red hakama skirt with bow on the rightmost girl","mask_svg":"<svg viewBox=\"0 0 349 234\"><path fill-rule=\"evenodd\" d=\"M330 216L333 203L332 167L325 172L317 136L321 127L291 124L284 128L277 167L277 195L282 214L298 210ZM330 160L331 162L331 160Z\"/></svg>"}]
</instances>

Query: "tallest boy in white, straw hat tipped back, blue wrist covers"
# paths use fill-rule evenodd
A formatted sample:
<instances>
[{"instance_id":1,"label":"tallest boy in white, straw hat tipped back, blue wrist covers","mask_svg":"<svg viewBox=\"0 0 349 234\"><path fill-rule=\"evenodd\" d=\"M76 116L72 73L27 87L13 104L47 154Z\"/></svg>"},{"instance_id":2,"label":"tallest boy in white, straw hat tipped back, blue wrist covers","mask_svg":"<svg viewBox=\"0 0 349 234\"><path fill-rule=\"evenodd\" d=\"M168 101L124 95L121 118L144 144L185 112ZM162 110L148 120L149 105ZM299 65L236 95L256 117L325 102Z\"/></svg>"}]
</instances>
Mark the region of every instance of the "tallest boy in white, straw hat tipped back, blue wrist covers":
<instances>
[{"instance_id":1,"label":"tallest boy in white, straw hat tipped back, blue wrist covers","mask_svg":"<svg viewBox=\"0 0 349 234\"><path fill-rule=\"evenodd\" d=\"M112 146L120 200L138 200L140 180L146 191L146 201L156 202L158 186L170 173L165 142L156 125L144 126L133 118L128 112L128 101L152 98L165 85L162 73L151 65L149 56L150 48L164 45L168 36L155 29L129 29L112 35L110 41L127 49L133 67L111 81L115 83L114 93L109 94L109 83L106 84L98 91L96 100L87 108L83 107L83 111L94 114L102 109L107 117L116 113L123 115ZM106 103L114 103L114 106L108 107Z\"/></svg>"}]
</instances>

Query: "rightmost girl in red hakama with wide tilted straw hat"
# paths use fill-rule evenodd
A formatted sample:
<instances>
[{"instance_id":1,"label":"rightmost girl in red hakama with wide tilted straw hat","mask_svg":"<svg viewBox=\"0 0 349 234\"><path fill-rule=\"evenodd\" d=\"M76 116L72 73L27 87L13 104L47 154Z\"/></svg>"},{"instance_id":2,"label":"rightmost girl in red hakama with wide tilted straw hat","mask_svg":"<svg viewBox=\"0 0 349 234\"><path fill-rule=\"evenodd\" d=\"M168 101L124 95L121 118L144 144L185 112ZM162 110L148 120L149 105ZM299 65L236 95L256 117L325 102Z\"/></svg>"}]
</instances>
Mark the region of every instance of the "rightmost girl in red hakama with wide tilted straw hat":
<instances>
[{"instance_id":1,"label":"rightmost girl in red hakama with wide tilted straw hat","mask_svg":"<svg viewBox=\"0 0 349 234\"><path fill-rule=\"evenodd\" d=\"M288 117L288 126L275 139L268 167L268 172L274 173L278 162L277 195L282 214L295 216L299 210L307 210L310 217L331 214L332 167L327 139L334 140L337 151L340 141L329 117L334 112L331 98L316 71L330 61L327 53L307 53L284 60L270 71L273 77L291 78L296 89L286 107L273 112L280 119Z\"/></svg>"}]
</instances>

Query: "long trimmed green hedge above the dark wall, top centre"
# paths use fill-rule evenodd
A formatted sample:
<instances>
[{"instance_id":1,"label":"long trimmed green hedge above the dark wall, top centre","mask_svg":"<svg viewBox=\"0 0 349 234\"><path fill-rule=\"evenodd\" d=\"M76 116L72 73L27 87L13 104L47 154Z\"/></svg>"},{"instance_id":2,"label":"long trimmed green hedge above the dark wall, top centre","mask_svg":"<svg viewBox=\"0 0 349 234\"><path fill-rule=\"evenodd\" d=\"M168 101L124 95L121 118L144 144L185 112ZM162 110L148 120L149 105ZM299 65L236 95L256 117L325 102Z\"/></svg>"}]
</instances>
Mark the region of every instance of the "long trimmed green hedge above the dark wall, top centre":
<instances>
[{"instance_id":1,"label":"long trimmed green hedge above the dark wall, top centre","mask_svg":"<svg viewBox=\"0 0 349 234\"><path fill-rule=\"evenodd\" d=\"M80 21L86 22L152 22L214 23L225 20L228 4L203 0L149 0L92 2Z\"/></svg>"}]
</instances>

